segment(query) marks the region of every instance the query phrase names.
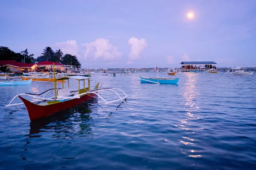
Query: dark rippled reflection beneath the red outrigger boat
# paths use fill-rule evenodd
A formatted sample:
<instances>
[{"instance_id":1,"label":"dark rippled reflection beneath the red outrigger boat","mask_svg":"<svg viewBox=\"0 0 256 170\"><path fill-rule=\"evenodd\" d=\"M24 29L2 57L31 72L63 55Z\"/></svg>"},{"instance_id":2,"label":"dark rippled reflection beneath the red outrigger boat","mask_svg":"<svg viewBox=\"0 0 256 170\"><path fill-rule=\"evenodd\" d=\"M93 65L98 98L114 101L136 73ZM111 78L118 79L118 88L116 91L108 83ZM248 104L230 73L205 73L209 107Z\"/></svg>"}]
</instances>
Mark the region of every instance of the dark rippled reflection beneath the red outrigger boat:
<instances>
[{"instance_id":1,"label":"dark rippled reflection beneath the red outrigger boat","mask_svg":"<svg viewBox=\"0 0 256 170\"><path fill-rule=\"evenodd\" d=\"M51 138L73 139L78 136L92 135L91 125L93 118L90 116L91 109L95 109L96 99L84 102L60 111L46 118L30 122L29 138L41 137L47 132Z\"/></svg>"}]
</instances>

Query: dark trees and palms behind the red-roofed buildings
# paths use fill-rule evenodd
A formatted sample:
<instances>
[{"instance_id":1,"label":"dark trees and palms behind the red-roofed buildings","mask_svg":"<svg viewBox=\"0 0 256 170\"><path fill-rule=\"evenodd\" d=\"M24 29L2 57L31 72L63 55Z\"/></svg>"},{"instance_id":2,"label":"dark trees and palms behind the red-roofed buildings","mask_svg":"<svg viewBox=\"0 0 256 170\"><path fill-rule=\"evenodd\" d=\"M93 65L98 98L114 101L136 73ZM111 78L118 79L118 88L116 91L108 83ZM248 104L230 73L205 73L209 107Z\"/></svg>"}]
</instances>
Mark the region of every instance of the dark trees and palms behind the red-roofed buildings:
<instances>
[{"instance_id":1,"label":"dark trees and palms behind the red-roofed buildings","mask_svg":"<svg viewBox=\"0 0 256 170\"><path fill-rule=\"evenodd\" d=\"M34 54L29 54L28 49L15 53L8 47L0 46L0 60L16 60L16 62L35 63L43 61L59 62L64 65L74 65L76 68L81 68L81 63L77 57L71 54L63 54L59 49L53 51L52 48L46 47L37 58L33 57Z\"/></svg>"}]
</instances>

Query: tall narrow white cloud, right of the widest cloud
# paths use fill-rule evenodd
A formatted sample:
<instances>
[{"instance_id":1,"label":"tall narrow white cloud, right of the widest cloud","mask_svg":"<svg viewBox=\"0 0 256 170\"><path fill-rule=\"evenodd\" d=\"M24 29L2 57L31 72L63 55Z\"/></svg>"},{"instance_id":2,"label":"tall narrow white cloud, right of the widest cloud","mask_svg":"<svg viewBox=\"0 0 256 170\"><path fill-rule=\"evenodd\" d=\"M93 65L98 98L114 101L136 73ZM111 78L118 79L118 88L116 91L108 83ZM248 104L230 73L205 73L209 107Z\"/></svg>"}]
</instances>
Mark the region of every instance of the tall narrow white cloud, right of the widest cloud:
<instances>
[{"instance_id":1,"label":"tall narrow white cloud, right of the widest cloud","mask_svg":"<svg viewBox=\"0 0 256 170\"><path fill-rule=\"evenodd\" d=\"M148 47L147 42L144 38L139 40L135 37L131 37L128 40L128 45L131 45L131 52L128 56L129 63L134 60L140 59L140 53Z\"/></svg>"}]
</instances>

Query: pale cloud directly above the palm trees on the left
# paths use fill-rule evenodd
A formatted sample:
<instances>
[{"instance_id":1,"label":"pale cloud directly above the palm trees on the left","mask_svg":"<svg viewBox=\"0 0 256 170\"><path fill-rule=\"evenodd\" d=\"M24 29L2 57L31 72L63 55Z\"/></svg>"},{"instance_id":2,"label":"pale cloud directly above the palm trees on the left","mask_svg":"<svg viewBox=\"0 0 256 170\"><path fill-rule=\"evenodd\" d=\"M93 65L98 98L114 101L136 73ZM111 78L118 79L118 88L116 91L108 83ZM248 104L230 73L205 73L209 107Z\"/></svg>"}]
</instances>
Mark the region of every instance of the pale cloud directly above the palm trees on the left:
<instances>
[{"instance_id":1,"label":"pale cloud directly above the palm trees on the left","mask_svg":"<svg viewBox=\"0 0 256 170\"><path fill-rule=\"evenodd\" d=\"M78 45L76 40L68 40L67 42L57 42L55 43L56 48L61 49L63 54L72 54L77 56Z\"/></svg>"}]
</instances>

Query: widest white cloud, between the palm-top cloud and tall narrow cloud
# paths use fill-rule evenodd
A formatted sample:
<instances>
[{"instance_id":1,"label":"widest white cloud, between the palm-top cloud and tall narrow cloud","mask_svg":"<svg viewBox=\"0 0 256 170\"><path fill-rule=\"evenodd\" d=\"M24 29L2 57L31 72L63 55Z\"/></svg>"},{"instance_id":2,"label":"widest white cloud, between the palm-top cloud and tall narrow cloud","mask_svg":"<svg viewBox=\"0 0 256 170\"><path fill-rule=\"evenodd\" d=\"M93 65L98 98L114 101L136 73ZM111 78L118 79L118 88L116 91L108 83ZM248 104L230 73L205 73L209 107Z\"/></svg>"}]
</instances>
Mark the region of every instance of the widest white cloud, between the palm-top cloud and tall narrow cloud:
<instances>
[{"instance_id":1,"label":"widest white cloud, between the palm-top cloud and tall narrow cloud","mask_svg":"<svg viewBox=\"0 0 256 170\"><path fill-rule=\"evenodd\" d=\"M116 61L122 56L122 53L117 51L117 47L113 46L109 40L99 38L90 43L81 45L86 48L84 58L97 60L102 57L105 61Z\"/></svg>"}]
</instances>

